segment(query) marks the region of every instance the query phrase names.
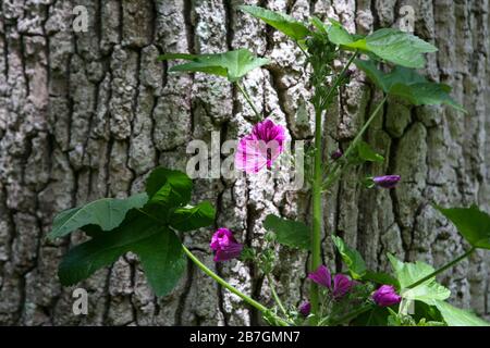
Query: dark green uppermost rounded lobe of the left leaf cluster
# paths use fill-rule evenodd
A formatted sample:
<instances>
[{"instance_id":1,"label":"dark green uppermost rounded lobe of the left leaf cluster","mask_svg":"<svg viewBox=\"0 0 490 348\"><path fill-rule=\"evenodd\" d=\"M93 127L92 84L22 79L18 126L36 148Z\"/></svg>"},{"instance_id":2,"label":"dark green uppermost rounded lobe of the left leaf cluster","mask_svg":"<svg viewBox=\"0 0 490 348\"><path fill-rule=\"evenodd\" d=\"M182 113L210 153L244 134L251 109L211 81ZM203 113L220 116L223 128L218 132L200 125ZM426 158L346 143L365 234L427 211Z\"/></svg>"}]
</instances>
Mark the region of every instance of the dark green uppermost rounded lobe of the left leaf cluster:
<instances>
[{"instance_id":1,"label":"dark green uppermost rounded lobe of the left leaf cluster","mask_svg":"<svg viewBox=\"0 0 490 348\"><path fill-rule=\"evenodd\" d=\"M182 207L188 203L193 190L193 182L180 171L157 167L146 181L146 192L150 203L166 208Z\"/></svg>"}]
</instances>

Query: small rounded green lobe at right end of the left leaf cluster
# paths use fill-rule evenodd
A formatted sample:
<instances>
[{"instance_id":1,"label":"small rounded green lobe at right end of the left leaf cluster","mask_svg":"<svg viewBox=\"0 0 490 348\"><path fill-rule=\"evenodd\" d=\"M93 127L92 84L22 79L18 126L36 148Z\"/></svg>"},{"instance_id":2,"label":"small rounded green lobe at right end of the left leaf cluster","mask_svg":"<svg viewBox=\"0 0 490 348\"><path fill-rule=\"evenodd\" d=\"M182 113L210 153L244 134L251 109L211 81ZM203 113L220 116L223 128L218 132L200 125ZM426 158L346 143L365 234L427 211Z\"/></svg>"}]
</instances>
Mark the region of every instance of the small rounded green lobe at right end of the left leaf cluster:
<instances>
[{"instance_id":1,"label":"small rounded green lobe at right end of the left leaf cluster","mask_svg":"<svg viewBox=\"0 0 490 348\"><path fill-rule=\"evenodd\" d=\"M177 208L170 215L170 225L181 232L194 231L211 225L215 222L215 208L210 202Z\"/></svg>"}]
</instances>

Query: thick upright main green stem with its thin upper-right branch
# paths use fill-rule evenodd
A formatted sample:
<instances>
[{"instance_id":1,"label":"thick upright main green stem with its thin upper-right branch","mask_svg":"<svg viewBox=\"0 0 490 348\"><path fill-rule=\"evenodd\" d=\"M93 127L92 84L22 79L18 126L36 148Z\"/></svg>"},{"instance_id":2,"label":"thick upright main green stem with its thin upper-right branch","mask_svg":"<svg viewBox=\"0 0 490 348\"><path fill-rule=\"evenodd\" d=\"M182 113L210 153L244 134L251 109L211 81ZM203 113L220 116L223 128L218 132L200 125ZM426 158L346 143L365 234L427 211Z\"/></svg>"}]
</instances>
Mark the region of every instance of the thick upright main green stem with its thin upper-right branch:
<instances>
[{"instance_id":1,"label":"thick upright main green stem with its thin upper-right branch","mask_svg":"<svg viewBox=\"0 0 490 348\"><path fill-rule=\"evenodd\" d=\"M322 183L323 183L323 163L322 163L322 116L323 110L328 107L333 92L339 87L345 72L356 58L355 52L342 72L336 76L333 85L327 92L327 96L322 102L315 108L315 164L314 164L314 179L313 179L313 229L311 229L311 262L309 270L315 272L321 264L321 229L322 229ZM311 282L309 290L309 301L311 303L311 312L318 313L318 285Z\"/></svg>"}]
</instances>

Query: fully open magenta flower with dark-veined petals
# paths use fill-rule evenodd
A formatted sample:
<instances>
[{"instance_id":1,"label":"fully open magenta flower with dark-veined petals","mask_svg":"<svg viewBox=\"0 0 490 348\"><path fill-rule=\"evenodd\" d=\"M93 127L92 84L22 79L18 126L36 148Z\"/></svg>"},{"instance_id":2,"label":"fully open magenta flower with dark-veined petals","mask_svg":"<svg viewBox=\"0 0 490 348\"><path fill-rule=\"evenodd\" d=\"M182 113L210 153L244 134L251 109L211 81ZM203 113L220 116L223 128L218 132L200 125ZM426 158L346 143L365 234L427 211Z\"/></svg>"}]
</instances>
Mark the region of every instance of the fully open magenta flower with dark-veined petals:
<instances>
[{"instance_id":1,"label":"fully open magenta flower with dark-veined petals","mask_svg":"<svg viewBox=\"0 0 490 348\"><path fill-rule=\"evenodd\" d=\"M238 141L235 153L235 167L246 173L258 173L264 166L268 169L284 151L285 132L271 120L257 123L252 134Z\"/></svg>"}]
</instances>

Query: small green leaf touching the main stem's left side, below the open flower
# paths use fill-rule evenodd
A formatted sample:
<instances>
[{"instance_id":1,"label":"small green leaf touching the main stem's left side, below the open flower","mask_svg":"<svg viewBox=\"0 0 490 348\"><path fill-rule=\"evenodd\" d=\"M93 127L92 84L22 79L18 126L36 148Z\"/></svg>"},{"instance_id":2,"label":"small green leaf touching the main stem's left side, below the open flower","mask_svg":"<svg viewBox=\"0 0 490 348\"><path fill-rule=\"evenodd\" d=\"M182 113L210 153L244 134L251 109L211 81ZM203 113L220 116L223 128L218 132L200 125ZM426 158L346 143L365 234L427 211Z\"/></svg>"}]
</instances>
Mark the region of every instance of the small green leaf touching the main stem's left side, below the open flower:
<instances>
[{"instance_id":1,"label":"small green leaf touching the main stem's left side, below the open flower","mask_svg":"<svg viewBox=\"0 0 490 348\"><path fill-rule=\"evenodd\" d=\"M280 244L291 248L309 250L310 231L304 223L269 214L264 221L264 227L272 231Z\"/></svg>"}]
</instances>

